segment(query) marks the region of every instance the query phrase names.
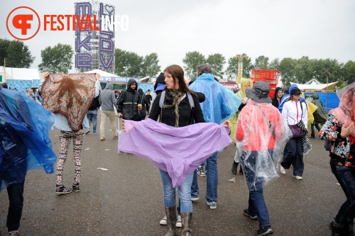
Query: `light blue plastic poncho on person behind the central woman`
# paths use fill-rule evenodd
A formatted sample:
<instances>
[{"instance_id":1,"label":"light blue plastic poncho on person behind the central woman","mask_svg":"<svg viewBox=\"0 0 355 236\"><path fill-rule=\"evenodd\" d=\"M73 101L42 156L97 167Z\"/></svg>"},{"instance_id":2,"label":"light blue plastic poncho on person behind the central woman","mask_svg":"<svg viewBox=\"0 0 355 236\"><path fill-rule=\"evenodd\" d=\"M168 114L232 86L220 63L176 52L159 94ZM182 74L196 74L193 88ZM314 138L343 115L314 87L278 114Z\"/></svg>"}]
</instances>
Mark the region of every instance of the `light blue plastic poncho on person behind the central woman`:
<instances>
[{"instance_id":1,"label":"light blue plastic poncho on person behind the central woman","mask_svg":"<svg viewBox=\"0 0 355 236\"><path fill-rule=\"evenodd\" d=\"M220 124L224 120L229 120L241 104L241 99L233 91L214 80L213 74L200 75L189 88L206 96L200 106L204 120L209 123Z\"/></svg>"}]
</instances>

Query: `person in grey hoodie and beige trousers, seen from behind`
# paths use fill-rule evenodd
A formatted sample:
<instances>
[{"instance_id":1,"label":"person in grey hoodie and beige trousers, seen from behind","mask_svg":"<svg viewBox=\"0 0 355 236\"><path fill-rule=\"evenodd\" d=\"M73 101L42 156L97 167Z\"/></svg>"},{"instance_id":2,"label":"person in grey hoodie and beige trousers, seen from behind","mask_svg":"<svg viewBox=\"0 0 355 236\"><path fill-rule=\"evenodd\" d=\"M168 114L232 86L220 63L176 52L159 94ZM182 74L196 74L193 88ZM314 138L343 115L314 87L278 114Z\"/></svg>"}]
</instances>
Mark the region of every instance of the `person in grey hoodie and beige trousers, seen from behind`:
<instances>
[{"instance_id":1,"label":"person in grey hoodie and beige trousers, seen from behind","mask_svg":"<svg viewBox=\"0 0 355 236\"><path fill-rule=\"evenodd\" d=\"M105 140L105 123L107 117L109 117L111 122L112 135L114 138L118 138L119 133L117 133L116 130L116 114L114 112L114 109L117 108L116 98L110 82L107 83L105 89L101 92L99 103L101 106L100 140Z\"/></svg>"}]
</instances>

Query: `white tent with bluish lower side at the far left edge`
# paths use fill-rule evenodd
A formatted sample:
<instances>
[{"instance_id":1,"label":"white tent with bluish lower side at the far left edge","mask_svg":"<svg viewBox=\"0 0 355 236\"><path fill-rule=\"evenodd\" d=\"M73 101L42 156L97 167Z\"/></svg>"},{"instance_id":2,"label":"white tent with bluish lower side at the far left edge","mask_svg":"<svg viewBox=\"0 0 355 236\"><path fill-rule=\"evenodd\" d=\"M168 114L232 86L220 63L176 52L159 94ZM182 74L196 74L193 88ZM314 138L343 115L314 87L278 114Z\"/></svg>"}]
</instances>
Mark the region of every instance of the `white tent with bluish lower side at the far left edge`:
<instances>
[{"instance_id":1,"label":"white tent with bluish lower side at the far left edge","mask_svg":"<svg viewBox=\"0 0 355 236\"><path fill-rule=\"evenodd\" d=\"M16 88L18 91L25 91L26 87L31 88L40 84L40 72L38 69L0 67L1 82L5 82L11 88Z\"/></svg>"}]
</instances>

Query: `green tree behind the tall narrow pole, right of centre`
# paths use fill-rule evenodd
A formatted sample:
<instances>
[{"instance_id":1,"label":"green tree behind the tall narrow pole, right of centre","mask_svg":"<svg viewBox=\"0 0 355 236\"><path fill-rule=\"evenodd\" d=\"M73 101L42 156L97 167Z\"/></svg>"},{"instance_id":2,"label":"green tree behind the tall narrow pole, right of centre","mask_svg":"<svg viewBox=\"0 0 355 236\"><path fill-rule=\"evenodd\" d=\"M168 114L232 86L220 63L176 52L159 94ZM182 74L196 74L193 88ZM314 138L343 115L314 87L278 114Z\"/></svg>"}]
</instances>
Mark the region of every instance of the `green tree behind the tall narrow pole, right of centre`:
<instances>
[{"instance_id":1,"label":"green tree behind the tall narrow pole, right of centre","mask_svg":"<svg viewBox=\"0 0 355 236\"><path fill-rule=\"evenodd\" d=\"M237 54L235 57L231 57L228 60L228 67L226 68L226 75L229 80L236 81L236 76L238 74L238 57L243 57L243 77L251 77L251 69L253 69L253 64L251 63L251 58L245 53Z\"/></svg>"}]
</instances>

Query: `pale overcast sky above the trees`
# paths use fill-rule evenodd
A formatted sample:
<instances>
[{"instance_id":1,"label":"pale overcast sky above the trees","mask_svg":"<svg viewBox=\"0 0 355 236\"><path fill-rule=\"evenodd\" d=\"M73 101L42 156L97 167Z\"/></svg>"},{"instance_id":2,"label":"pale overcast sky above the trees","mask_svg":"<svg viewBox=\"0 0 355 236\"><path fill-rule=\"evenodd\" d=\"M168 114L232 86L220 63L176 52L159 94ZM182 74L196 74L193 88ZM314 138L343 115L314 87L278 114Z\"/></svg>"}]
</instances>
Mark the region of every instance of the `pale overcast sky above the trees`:
<instances>
[{"instance_id":1,"label":"pale overcast sky above the trees","mask_svg":"<svg viewBox=\"0 0 355 236\"><path fill-rule=\"evenodd\" d=\"M13 40L6 17L18 6L29 6L41 18L45 14L74 14L74 2L1 1L0 38ZM354 0L106 0L116 15L129 17L129 30L117 30L115 47L145 56L158 54L161 69L182 64L186 52L205 57L221 53L228 62L246 53L252 62L269 57L336 59L355 61ZM44 31L24 41L35 56L31 68L41 62L40 50L57 43L75 45L74 31ZM227 63L225 67L227 66ZM74 68L74 60L73 60ZM74 69L71 72L75 72Z\"/></svg>"}]
</instances>

